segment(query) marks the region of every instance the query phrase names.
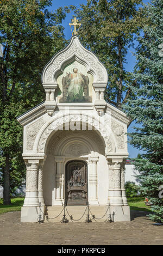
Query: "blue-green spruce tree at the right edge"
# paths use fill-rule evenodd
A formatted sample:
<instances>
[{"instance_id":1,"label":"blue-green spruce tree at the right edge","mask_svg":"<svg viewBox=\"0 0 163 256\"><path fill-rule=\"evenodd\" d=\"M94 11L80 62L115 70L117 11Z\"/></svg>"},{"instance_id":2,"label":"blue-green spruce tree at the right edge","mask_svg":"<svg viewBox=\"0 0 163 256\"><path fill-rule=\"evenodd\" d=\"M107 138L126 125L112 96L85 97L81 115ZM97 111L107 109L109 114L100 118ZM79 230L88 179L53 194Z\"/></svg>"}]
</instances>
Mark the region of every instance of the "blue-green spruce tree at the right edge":
<instances>
[{"instance_id":1,"label":"blue-green spruce tree at the right edge","mask_svg":"<svg viewBox=\"0 0 163 256\"><path fill-rule=\"evenodd\" d=\"M130 144L146 151L135 159L135 167L141 172L141 192L152 203L154 214L151 220L163 223L163 199L159 197L163 184L163 58L160 44L163 42L163 2L152 0L145 8L151 26L144 26L144 35L139 38L137 65L133 78L137 87L131 88L135 99L129 99L123 108L140 127L130 133ZM143 72L142 72L143 68ZM141 72L140 72L141 70Z\"/></svg>"}]
</instances>

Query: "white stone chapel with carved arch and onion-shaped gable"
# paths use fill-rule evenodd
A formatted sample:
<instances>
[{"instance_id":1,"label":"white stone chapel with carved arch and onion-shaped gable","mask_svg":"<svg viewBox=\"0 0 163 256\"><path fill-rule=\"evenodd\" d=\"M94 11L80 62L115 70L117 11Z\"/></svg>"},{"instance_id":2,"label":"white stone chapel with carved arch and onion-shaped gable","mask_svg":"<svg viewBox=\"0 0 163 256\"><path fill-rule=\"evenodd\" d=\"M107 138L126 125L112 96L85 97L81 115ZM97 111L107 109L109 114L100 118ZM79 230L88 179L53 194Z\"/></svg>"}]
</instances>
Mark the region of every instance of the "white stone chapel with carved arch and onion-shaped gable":
<instances>
[{"instance_id":1,"label":"white stone chapel with carved arch and onion-shaped gable","mask_svg":"<svg viewBox=\"0 0 163 256\"><path fill-rule=\"evenodd\" d=\"M39 203L78 208L110 205L130 221L124 188L129 119L104 100L104 65L73 35L42 72L46 101L17 118L27 167L21 222L36 222Z\"/></svg>"}]
</instances>

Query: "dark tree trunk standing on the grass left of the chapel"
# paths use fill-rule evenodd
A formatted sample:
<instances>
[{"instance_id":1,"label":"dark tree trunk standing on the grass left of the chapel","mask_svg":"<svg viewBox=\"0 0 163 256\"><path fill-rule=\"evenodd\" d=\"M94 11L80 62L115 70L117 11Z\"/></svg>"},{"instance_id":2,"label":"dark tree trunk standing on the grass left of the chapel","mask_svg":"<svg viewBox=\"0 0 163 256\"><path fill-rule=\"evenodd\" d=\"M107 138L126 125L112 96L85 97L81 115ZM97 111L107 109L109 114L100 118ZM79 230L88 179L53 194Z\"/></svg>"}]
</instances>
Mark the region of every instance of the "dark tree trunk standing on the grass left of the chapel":
<instances>
[{"instance_id":1,"label":"dark tree trunk standing on the grass left of the chapel","mask_svg":"<svg viewBox=\"0 0 163 256\"><path fill-rule=\"evenodd\" d=\"M9 168L9 154L5 155L5 167L3 172L3 204L11 204L10 197L10 168Z\"/></svg>"}]
</instances>

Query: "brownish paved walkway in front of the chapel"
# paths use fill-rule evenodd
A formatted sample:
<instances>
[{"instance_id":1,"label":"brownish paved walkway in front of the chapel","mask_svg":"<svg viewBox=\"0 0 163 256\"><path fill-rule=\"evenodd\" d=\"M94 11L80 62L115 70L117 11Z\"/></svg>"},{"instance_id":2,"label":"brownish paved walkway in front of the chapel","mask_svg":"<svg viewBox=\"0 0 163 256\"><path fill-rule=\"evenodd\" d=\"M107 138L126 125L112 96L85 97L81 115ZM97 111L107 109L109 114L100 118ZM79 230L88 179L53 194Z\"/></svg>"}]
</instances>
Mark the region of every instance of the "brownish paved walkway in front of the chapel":
<instances>
[{"instance_id":1,"label":"brownish paved walkway in front of the chapel","mask_svg":"<svg viewBox=\"0 0 163 256\"><path fill-rule=\"evenodd\" d=\"M0 215L0 245L163 245L163 226L147 212L131 211L131 222L21 223L21 212Z\"/></svg>"}]
</instances>

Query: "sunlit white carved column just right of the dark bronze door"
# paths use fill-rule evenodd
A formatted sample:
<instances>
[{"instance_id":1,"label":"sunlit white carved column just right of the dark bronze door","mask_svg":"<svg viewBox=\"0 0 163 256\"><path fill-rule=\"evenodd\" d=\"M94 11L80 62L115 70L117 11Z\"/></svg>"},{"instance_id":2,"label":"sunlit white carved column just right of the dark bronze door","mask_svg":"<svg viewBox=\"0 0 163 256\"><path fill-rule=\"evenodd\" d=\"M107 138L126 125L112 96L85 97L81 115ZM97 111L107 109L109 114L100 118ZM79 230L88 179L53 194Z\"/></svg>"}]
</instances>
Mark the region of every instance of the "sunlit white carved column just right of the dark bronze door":
<instances>
[{"instance_id":1,"label":"sunlit white carved column just right of the dark bronze door","mask_svg":"<svg viewBox=\"0 0 163 256\"><path fill-rule=\"evenodd\" d=\"M89 158L89 203L98 204L97 199L97 161L98 157Z\"/></svg>"}]
</instances>

